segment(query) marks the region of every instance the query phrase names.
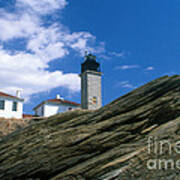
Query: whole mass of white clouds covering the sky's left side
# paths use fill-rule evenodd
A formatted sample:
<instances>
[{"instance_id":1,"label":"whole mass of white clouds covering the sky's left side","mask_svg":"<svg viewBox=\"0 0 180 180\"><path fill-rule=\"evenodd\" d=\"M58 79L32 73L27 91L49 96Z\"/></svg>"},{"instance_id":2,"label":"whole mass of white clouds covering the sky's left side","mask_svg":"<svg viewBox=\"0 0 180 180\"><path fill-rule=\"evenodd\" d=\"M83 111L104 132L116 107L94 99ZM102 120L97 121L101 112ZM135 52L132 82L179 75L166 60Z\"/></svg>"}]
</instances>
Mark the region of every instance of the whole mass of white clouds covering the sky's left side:
<instances>
[{"instance_id":1,"label":"whole mass of white clouds covering the sky's left side","mask_svg":"<svg viewBox=\"0 0 180 180\"><path fill-rule=\"evenodd\" d=\"M89 32L71 33L61 22L43 26L42 15L61 10L66 0L17 0L16 13L0 9L0 42L23 38L27 46L23 51L10 51L0 47L0 90L14 93L22 89L28 97L34 93L64 87L71 92L80 90L78 74L49 72L48 63L63 58L70 49L84 55L84 51L103 52L104 44L96 44Z\"/></svg>"}]
</instances>

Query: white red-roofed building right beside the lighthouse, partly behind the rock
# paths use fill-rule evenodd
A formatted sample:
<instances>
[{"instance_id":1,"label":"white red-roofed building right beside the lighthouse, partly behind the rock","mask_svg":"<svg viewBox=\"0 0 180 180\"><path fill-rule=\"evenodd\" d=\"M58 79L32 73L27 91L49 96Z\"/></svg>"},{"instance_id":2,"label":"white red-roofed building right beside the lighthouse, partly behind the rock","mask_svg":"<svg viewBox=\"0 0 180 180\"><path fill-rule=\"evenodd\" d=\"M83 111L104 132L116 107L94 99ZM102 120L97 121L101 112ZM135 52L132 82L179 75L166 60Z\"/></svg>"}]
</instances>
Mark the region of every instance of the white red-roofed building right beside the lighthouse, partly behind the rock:
<instances>
[{"instance_id":1,"label":"white red-roofed building right beside the lighthouse, partly behind the rock","mask_svg":"<svg viewBox=\"0 0 180 180\"><path fill-rule=\"evenodd\" d=\"M59 95L56 99L48 99L34 108L36 116L49 117L58 113L63 113L80 108L80 104L64 100Z\"/></svg>"}]
</instances>

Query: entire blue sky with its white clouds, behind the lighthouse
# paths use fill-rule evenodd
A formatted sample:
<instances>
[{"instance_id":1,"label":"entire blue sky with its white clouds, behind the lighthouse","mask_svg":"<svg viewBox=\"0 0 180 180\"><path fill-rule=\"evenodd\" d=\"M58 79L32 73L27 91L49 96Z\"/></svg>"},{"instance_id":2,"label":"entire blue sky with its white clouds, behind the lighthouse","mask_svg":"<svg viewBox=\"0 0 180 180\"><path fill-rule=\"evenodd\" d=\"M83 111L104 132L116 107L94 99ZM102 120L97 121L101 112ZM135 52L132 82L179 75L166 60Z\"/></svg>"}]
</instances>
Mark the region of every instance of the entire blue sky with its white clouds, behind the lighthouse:
<instances>
[{"instance_id":1,"label":"entire blue sky with its white clouds, behind the lighthouse","mask_svg":"<svg viewBox=\"0 0 180 180\"><path fill-rule=\"evenodd\" d=\"M103 104L179 74L179 0L0 0L0 91L24 111L61 94L80 102L86 50L103 71Z\"/></svg>"}]
</instances>

